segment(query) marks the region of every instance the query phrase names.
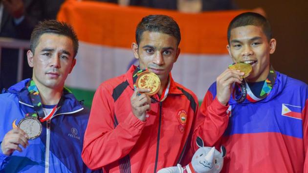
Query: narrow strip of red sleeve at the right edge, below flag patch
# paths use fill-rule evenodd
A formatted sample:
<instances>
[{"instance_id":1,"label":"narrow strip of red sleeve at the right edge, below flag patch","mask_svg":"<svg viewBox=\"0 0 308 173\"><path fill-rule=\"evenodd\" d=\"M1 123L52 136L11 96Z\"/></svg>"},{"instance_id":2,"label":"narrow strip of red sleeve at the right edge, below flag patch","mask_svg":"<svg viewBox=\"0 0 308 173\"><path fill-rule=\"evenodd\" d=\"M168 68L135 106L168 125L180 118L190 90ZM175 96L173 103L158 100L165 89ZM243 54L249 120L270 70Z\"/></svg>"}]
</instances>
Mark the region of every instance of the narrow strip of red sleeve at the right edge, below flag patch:
<instances>
[{"instance_id":1,"label":"narrow strip of red sleeve at the right edge, below flag patch","mask_svg":"<svg viewBox=\"0 0 308 173\"><path fill-rule=\"evenodd\" d=\"M304 173L308 173L308 99L303 109Z\"/></svg>"}]
</instances>

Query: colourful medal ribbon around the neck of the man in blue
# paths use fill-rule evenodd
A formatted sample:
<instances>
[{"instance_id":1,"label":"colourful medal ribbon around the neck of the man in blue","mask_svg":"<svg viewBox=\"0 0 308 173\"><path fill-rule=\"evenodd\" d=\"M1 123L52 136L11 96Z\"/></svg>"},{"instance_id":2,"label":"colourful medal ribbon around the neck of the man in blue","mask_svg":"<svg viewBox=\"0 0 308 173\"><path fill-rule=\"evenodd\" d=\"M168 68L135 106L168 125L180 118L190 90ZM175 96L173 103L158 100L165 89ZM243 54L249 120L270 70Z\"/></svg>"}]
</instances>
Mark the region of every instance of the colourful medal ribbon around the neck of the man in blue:
<instances>
[{"instance_id":1,"label":"colourful medal ribbon around the neck of the man in blue","mask_svg":"<svg viewBox=\"0 0 308 173\"><path fill-rule=\"evenodd\" d=\"M38 87L35 85L35 82L32 79L27 83L26 87L28 89L31 102L33 104L34 111L35 111L35 113L27 113L26 116L33 116L33 117L39 118L41 122L44 122L50 119L51 116L55 113L58 105L52 108L52 111L44 118L43 105L41 102L41 97L40 97ZM61 100L62 99L60 99L60 102Z\"/></svg>"}]
</instances>

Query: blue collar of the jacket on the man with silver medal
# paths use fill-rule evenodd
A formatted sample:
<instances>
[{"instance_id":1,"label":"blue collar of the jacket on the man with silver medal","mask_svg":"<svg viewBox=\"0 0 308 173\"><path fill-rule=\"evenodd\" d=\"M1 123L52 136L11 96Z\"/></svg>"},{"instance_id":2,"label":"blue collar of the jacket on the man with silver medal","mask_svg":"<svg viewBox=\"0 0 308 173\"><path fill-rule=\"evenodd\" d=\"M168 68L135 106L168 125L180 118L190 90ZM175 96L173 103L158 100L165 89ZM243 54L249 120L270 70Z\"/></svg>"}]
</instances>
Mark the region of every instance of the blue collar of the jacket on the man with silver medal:
<instances>
[{"instance_id":1,"label":"blue collar of the jacket on the man with silver medal","mask_svg":"<svg viewBox=\"0 0 308 173\"><path fill-rule=\"evenodd\" d=\"M30 79L23 80L14 86L9 87L7 92L16 94L18 96L19 103L25 105L26 107L33 108L33 104L31 102L29 92L26 88L27 83ZM61 108L57 110L56 114L66 114L66 113L74 113L83 109L83 106L79 101L75 98L75 96L69 91L66 87L63 89L63 103ZM28 108L26 108L29 110Z\"/></svg>"}]
</instances>

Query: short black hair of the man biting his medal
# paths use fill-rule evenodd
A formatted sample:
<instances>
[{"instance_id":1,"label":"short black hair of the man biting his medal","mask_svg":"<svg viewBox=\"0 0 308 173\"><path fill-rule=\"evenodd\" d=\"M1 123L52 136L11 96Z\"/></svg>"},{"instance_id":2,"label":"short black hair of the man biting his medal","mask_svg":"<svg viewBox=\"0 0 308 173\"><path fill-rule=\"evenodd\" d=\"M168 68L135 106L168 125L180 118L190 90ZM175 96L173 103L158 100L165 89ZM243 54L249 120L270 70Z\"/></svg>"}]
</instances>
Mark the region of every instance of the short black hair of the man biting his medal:
<instances>
[{"instance_id":1,"label":"short black hair of the man biting his medal","mask_svg":"<svg viewBox=\"0 0 308 173\"><path fill-rule=\"evenodd\" d=\"M272 29L270 27L270 24L268 20L258 14L253 12L246 12L242 13L238 16L236 16L229 24L228 26L228 43L230 44L230 37L231 37L231 30L240 26L247 26L247 25L254 25L254 26L260 26L262 27L262 30L269 41L272 39Z\"/></svg>"}]
</instances>

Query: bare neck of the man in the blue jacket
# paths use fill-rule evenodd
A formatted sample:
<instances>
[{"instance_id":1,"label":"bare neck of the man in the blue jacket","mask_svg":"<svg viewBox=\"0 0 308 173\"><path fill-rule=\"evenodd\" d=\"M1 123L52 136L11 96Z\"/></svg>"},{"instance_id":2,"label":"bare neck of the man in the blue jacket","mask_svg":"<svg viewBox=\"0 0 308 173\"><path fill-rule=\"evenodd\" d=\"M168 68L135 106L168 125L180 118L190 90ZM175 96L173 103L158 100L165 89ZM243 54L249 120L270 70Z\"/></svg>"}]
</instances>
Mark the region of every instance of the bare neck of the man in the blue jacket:
<instances>
[{"instance_id":1,"label":"bare neck of the man in the blue jacket","mask_svg":"<svg viewBox=\"0 0 308 173\"><path fill-rule=\"evenodd\" d=\"M63 87L61 89L52 89L41 85L33 79L35 85L38 87L42 103L44 105L57 105L61 99Z\"/></svg>"}]
</instances>

